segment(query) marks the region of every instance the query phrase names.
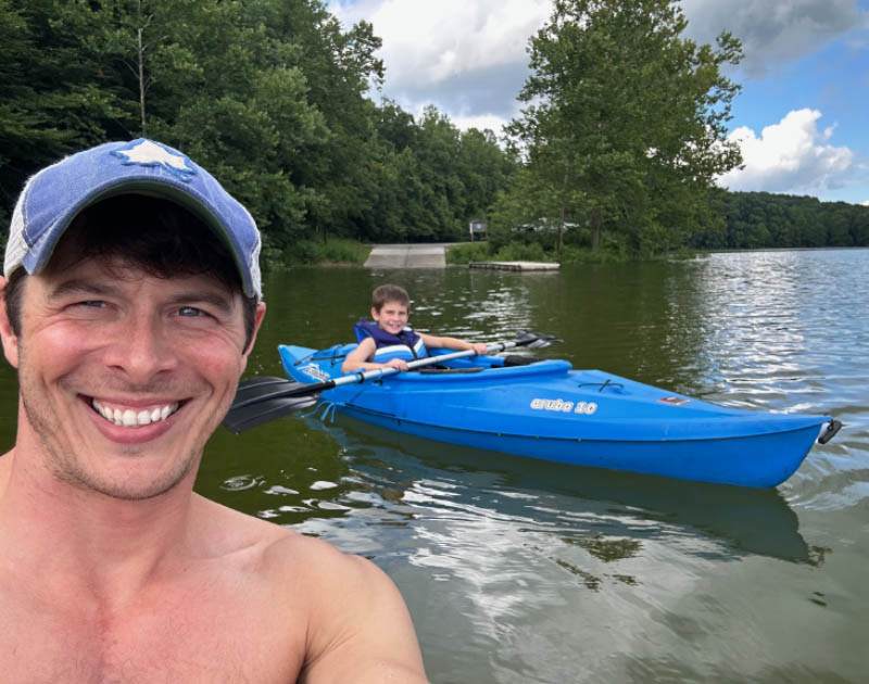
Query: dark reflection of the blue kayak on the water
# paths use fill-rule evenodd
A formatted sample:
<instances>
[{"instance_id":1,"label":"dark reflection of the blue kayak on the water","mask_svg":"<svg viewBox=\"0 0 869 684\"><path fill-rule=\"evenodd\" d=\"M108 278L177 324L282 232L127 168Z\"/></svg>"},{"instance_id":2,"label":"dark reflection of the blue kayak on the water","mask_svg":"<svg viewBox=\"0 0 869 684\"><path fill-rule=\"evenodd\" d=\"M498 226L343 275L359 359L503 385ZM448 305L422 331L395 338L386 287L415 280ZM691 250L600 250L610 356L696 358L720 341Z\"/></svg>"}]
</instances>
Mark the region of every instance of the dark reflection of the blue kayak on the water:
<instances>
[{"instance_id":1,"label":"dark reflection of the blue kayak on the water","mask_svg":"<svg viewBox=\"0 0 869 684\"><path fill-rule=\"evenodd\" d=\"M340 427L339 427L340 426ZM704 557L760 554L811 562L797 517L777 491L683 483L664 478L539 463L381 430L350 418L328 428L361 485L395 473L402 501L471 522L498 519L551 533L609 562L637 555L644 540L678 541ZM342 429L344 428L344 429Z\"/></svg>"}]
</instances>

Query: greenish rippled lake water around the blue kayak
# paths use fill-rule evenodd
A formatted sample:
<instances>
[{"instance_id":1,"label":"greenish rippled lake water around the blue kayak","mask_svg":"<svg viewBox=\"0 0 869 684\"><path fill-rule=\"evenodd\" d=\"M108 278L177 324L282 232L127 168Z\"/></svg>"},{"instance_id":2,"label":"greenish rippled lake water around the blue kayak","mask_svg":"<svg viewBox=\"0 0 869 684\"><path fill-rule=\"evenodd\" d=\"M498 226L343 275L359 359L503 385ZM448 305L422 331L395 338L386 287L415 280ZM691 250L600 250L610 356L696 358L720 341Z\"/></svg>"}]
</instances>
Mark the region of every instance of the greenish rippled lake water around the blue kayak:
<instances>
[{"instance_id":1,"label":"greenish rippled lake water around the blue kayak","mask_svg":"<svg viewBox=\"0 0 869 684\"><path fill-rule=\"evenodd\" d=\"M845 423L772 491L444 446L315 415L212 440L197 484L371 558L432 682L860 682L869 675L869 250L716 254L559 274L300 269L266 283L276 345L349 340L371 288L420 329L563 343L567 358L706 400ZM0 371L0 443L14 439Z\"/></svg>"}]
</instances>

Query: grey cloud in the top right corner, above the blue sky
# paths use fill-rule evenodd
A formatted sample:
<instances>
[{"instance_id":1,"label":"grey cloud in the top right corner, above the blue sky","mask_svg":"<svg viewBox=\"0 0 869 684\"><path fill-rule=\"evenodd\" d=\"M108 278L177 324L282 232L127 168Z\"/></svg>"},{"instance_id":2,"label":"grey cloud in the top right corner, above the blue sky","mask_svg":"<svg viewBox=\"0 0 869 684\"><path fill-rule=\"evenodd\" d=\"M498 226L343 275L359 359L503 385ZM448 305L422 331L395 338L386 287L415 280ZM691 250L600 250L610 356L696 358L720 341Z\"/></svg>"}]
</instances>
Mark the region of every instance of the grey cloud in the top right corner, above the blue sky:
<instances>
[{"instance_id":1,"label":"grey cloud in the top right corner, above the blue sky","mask_svg":"<svg viewBox=\"0 0 869 684\"><path fill-rule=\"evenodd\" d=\"M869 12L857 0L682 0L682 8L697 40L713 42L722 30L742 40L752 76L869 27Z\"/></svg>"}]
</instances>

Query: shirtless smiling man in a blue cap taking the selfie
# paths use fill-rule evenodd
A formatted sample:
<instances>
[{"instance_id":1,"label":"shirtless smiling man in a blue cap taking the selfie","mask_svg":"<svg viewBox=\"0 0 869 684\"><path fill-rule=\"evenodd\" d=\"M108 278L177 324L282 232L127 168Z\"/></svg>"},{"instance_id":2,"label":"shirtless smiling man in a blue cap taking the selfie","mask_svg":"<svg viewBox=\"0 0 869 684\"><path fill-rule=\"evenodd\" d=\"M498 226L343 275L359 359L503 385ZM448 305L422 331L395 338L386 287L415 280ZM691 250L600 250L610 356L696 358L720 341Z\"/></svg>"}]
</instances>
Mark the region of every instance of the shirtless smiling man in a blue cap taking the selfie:
<instances>
[{"instance_id":1,"label":"shirtless smiling man in a blue cap taking the selfie","mask_svg":"<svg viewBox=\"0 0 869 684\"><path fill-rule=\"evenodd\" d=\"M424 682L370 562L192 492L265 314L248 212L108 143L25 187L0 278L4 682Z\"/></svg>"}]
</instances>

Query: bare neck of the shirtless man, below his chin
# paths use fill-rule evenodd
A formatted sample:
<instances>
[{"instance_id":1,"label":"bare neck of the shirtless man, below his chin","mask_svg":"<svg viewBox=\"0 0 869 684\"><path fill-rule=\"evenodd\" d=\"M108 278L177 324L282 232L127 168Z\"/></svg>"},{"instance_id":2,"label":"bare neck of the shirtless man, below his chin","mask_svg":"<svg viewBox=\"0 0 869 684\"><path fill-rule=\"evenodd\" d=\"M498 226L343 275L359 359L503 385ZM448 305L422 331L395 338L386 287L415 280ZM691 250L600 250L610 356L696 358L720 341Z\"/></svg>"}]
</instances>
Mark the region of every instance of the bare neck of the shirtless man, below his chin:
<instances>
[{"instance_id":1,"label":"bare neck of the shirtless man, below his chin","mask_svg":"<svg viewBox=\"0 0 869 684\"><path fill-rule=\"evenodd\" d=\"M184 563L194 472L159 496L123 501L60 481L18 452L0 458L0 547L16 573L118 605Z\"/></svg>"}]
</instances>

